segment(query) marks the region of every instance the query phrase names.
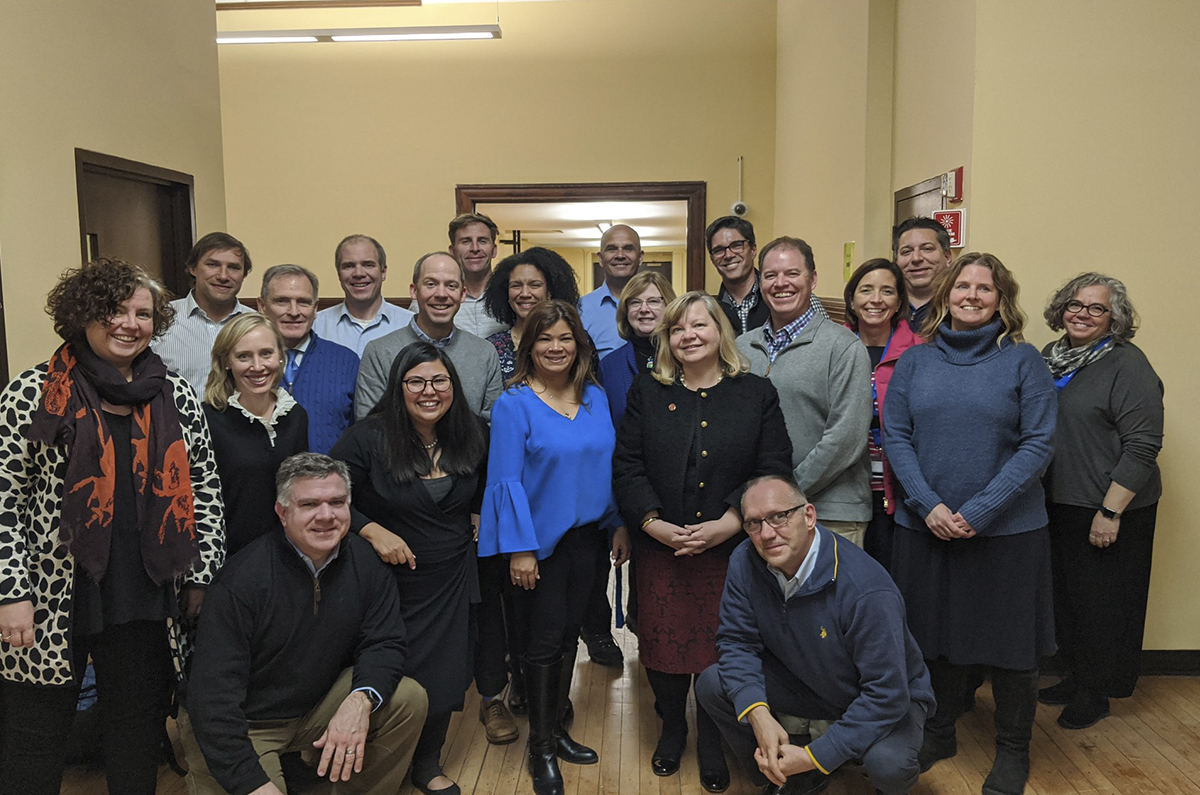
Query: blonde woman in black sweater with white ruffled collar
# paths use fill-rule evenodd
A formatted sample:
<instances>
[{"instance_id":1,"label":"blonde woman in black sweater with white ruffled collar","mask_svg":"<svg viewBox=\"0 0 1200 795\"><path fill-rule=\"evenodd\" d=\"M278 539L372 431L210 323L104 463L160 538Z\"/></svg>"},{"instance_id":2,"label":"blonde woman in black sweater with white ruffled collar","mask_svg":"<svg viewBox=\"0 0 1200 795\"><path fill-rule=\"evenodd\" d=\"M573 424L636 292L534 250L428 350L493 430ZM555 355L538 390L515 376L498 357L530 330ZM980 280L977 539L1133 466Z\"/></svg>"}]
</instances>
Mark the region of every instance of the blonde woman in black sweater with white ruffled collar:
<instances>
[{"instance_id":1,"label":"blonde woman in black sweater with white ruffled collar","mask_svg":"<svg viewBox=\"0 0 1200 795\"><path fill-rule=\"evenodd\" d=\"M283 339L265 315L233 318L212 342L204 417L226 504L229 555L278 525L275 473L308 452L308 414L286 390Z\"/></svg>"}]
</instances>

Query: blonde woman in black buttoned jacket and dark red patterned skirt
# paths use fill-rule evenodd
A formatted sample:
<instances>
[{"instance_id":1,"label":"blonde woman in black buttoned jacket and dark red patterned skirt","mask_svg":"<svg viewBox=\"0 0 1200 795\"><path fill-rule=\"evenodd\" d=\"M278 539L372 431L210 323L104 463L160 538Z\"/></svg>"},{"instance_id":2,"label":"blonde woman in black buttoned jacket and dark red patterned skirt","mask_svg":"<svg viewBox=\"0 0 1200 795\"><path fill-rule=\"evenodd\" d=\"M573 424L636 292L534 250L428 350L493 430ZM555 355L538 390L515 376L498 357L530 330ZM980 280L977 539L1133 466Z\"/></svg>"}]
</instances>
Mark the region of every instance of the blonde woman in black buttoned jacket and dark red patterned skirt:
<instances>
[{"instance_id":1,"label":"blonde woman in black buttoned jacket and dark red patterned skirt","mask_svg":"<svg viewBox=\"0 0 1200 795\"><path fill-rule=\"evenodd\" d=\"M791 474L779 395L751 375L716 300L685 293L654 331L658 355L629 390L617 434L613 488L635 532L638 653L662 716L650 767L679 770L692 680L716 663L716 624L730 554L745 536L746 480ZM720 735L696 713L701 784L730 784Z\"/></svg>"}]
</instances>

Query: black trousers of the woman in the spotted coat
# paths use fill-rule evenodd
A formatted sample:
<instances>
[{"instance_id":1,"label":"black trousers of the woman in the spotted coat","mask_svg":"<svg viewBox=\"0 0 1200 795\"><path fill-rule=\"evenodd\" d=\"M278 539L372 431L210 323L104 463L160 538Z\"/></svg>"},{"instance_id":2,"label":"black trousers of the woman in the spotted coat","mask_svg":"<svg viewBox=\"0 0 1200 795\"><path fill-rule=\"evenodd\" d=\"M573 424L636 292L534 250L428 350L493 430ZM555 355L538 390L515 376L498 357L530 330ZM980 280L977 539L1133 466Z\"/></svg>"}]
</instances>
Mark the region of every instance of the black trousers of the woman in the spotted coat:
<instances>
[{"instance_id":1,"label":"black trousers of the woman in the spotted coat","mask_svg":"<svg viewBox=\"0 0 1200 795\"><path fill-rule=\"evenodd\" d=\"M89 653L96 668L108 791L154 795L172 679L167 626L109 627L76 638L73 653L77 677ZM78 695L78 679L64 687L0 680L0 795L58 795Z\"/></svg>"}]
</instances>

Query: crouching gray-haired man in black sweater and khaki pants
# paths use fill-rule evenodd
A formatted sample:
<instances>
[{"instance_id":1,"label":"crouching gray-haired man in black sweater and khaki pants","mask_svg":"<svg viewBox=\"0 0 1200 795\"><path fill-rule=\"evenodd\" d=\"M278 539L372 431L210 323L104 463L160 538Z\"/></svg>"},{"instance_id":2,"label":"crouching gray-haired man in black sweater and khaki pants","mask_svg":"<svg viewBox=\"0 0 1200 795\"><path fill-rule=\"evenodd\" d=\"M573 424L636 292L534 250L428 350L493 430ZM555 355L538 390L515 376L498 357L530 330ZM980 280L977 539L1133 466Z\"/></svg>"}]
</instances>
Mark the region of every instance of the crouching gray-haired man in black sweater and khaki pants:
<instances>
[{"instance_id":1,"label":"crouching gray-haired man in black sweater and khaki pants","mask_svg":"<svg viewBox=\"0 0 1200 795\"><path fill-rule=\"evenodd\" d=\"M402 677L396 580L347 534L346 465L301 453L276 477L272 528L209 588L180 734L190 793L284 793L280 754L316 764L322 793L400 789L425 723Z\"/></svg>"}]
</instances>

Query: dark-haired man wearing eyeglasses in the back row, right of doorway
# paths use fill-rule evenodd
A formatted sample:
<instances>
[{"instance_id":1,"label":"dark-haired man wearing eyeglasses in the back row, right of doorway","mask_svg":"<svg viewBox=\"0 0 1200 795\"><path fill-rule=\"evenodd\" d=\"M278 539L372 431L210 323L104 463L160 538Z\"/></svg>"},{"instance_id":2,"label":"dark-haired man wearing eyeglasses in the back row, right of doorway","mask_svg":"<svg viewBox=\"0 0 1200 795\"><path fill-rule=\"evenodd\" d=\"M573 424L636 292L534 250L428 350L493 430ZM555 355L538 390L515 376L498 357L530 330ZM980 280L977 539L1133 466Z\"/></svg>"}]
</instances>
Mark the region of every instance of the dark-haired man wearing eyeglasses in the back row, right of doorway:
<instances>
[{"instance_id":1,"label":"dark-haired man wearing eyeglasses in the back row, right of doorway","mask_svg":"<svg viewBox=\"0 0 1200 795\"><path fill-rule=\"evenodd\" d=\"M716 219L704 229L704 245L713 267L721 275L716 300L733 325L733 335L740 336L763 325L770 311L762 300L758 271L754 268L758 253L754 225L736 215ZM809 301L814 313L828 317L816 295L809 295Z\"/></svg>"}]
</instances>

